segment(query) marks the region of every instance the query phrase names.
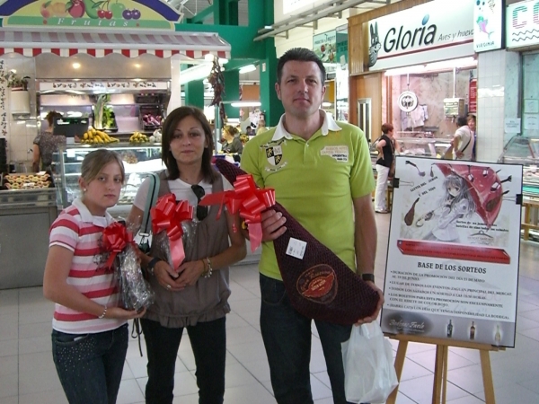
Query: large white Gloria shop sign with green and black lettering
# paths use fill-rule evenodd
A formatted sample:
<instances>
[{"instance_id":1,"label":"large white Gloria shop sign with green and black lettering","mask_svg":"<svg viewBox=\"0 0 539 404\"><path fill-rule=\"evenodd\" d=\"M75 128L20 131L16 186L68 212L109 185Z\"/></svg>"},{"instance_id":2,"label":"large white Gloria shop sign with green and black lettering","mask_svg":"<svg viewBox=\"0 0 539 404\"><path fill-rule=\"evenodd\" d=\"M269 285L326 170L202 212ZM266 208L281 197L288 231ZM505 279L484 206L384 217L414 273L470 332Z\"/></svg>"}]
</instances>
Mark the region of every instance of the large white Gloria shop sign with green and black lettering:
<instances>
[{"instance_id":1,"label":"large white Gloria shop sign with green and black lettering","mask_svg":"<svg viewBox=\"0 0 539 404\"><path fill-rule=\"evenodd\" d=\"M473 56L470 0L436 0L368 22L369 71Z\"/></svg>"}]
</instances>

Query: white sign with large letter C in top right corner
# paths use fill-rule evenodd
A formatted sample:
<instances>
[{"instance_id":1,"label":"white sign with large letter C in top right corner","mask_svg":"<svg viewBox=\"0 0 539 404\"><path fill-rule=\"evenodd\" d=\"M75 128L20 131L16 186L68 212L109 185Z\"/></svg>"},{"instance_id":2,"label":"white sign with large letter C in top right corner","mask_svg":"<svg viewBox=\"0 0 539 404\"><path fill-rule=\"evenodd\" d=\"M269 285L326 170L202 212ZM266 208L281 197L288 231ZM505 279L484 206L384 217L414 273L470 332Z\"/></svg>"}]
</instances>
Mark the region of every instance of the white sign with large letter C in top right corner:
<instances>
[{"instance_id":1,"label":"white sign with large letter C in top right corner","mask_svg":"<svg viewBox=\"0 0 539 404\"><path fill-rule=\"evenodd\" d=\"M539 0L508 5L507 47L539 44Z\"/></svg>"}]
</instances>

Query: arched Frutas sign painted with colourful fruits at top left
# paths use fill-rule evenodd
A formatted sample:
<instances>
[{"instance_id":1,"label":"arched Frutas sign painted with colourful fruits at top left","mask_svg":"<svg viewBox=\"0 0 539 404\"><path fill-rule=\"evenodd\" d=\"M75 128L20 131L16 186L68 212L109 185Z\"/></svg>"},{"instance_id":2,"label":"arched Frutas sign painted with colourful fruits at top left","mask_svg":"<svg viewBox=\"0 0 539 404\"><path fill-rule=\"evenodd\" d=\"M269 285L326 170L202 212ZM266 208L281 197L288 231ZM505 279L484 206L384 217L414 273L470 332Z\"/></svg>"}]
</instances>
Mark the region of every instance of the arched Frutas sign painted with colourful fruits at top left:
<instances>
[{"instance_id":1,"label":"arched Frutas sign painted with colourful fruits at top left","mask_svg":"<svg viewBox=\"0 0 539 404\"><path fill-rule=\"evenodd\" d=\"M0 5L3 27L100 27L172 30L181 14L159 0L7 0Z\"/></svg>"}]
</instances>

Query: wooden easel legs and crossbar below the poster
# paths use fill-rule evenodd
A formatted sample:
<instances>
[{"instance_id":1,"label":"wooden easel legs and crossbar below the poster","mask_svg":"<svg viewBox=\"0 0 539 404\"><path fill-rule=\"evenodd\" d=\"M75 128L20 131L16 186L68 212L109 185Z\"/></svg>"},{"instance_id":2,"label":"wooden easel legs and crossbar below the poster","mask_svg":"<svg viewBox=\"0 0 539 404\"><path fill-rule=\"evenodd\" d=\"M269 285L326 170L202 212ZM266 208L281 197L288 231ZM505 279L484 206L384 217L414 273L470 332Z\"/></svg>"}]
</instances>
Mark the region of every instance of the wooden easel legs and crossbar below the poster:
<instances>
[{"instance_id":1,"label":"wooden easel legs and crossbar below the poster","mask_svg":"<svg viewBox=\"0 0 539 404\"><path fill-rule=\"evenodd\" d=\"M434 366L434 383L432 386L432 404L445 404L446 403L446 391L447 391L447 356L449 354L449 347L464 347L470 349L478 349L481 357L481 369L483 388L485 391L485 403L495 404L494 398L494 385L492 384L492 373L490 370L490 351L504 351L505 347L494 347L487 344L481 344L478 342L459 341L444 338L428 338L419 337L416 335L406 334L385 334L385 337L396 339L399 341L399 347L397 348L397 356L395 357L395 372L397 373L397 380L401 381L402 368L404 366L404 359L406 358L406 349L409 342L420 342L423 344L436 345L436 364ZM397 400L398 387L393 390L390 396L385 401L386 404L395 404Z\"/></svg>"}]
</instances>

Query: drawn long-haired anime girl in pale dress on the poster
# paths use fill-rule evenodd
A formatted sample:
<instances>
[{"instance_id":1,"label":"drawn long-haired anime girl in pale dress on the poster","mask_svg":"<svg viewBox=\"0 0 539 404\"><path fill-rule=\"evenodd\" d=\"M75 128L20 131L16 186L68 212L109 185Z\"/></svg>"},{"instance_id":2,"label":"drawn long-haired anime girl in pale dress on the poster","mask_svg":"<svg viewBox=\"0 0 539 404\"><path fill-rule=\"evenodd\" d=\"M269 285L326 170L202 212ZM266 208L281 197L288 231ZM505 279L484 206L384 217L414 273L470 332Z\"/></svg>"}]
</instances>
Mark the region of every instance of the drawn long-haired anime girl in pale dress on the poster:
<instances>
[{"instance_id":1,"label":"drawn long-haired anime girl in pale dress on the poster","mask_svg":"<svg viewBox=\"0 0 539 404\"><path fill-rule=\"evenodd\" d=\"M468 184L464 178L450 174L444 180L444 196L440 206L432 213L424 216L424 220L429 220L432 214L437 215L437 224L425 240L436 240L440 242L458 242L459 236L456 230L456 221L464 216L471 216L475 213L475 203Z\"/></svg>"}]
</instances>

